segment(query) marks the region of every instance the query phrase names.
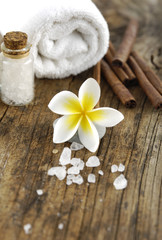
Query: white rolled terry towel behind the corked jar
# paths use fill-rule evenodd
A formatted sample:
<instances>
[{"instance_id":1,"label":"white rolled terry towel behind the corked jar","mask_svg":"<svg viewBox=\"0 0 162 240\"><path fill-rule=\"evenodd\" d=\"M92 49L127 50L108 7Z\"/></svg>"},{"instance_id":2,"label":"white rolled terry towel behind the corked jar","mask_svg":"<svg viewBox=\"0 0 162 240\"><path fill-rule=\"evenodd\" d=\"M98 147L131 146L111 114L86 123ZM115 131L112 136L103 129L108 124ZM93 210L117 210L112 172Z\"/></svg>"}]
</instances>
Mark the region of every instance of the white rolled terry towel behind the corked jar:
<instances>
[{"instance_id":1,"label":"white rolled terry towel behind the corked jar","mask_svg":"<svg viewBox=\"0 0 162 240\"><path fill-rule=\"evenodd\" d=\"M8 1L5 4L7 14L0 14L4 23L0 30L28 34L38 78L77 75L94 66L108 49L107 23L91 0L34 0L32 4L11 0L9 8Z\"/></svg>"}]
</instances>

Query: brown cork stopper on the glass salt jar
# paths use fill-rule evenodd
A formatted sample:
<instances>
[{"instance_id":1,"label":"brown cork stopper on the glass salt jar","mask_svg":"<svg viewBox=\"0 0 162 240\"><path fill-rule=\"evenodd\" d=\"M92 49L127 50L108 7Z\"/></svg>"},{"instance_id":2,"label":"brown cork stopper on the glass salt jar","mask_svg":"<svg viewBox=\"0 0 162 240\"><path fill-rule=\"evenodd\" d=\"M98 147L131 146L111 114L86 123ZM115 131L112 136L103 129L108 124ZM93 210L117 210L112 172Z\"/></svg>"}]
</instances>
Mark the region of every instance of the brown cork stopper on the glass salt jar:
<instances>
[{"instance_id":1,"label":"brown cork stopper on the glass salt jar","mask_svg":"<svg viewBox=\"0 0 162 240\"><path fill-rule=\"evenodd\" d=\"M6 48L18 50L26 47L27 34L24 32L8 32L4 35L4 44Z\"/></svg>"}]
</instances>

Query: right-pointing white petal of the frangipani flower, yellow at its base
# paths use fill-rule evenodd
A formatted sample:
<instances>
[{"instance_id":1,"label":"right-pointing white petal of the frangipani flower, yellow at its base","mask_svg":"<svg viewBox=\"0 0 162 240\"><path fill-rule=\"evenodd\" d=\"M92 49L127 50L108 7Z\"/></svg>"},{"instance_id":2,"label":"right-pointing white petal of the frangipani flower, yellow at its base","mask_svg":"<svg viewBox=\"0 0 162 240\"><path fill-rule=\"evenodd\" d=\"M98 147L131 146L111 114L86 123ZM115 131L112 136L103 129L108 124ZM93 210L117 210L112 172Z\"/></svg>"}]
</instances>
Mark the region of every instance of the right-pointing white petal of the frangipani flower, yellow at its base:
<instances>
[{"instance_id":1,"label":"right-pointing white petal of the frangipani flower, yellow at its base","mask_svg":"<svg viewBox=\"0 0 162 240\"><path fill-rule=\"evenodd\" d=\"M113 127L124 119L121 112L107 107L93 109L87 115L92 122L105 127Z\"/></svg>"}]
</instances>

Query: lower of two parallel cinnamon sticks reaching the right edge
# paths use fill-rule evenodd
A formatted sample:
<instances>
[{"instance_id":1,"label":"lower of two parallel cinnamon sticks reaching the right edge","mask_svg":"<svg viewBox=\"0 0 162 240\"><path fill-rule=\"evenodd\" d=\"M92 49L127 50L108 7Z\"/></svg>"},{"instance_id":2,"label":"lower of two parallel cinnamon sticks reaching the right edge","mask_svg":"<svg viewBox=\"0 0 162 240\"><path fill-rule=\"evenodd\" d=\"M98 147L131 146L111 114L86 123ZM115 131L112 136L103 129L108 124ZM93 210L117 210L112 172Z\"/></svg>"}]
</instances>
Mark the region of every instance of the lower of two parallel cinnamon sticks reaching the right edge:
<instances>
[{"instance_id":1,"label":"lower of two parallel cinnamon sticks reaching the right edge","mask_svg":"<svg viewBox=\"0 0 162 240\"><path fill-rule=\"evenodd\" d=\"M146 75L142 71L142 69L139 67L138 63L136 62L135 58L133 56L129 57L129 64L132 67L134 73L137 76L139 85L151 101L152 105L158 109L162 107L162 96L160 93L154 88L154 86L149 82Z\"/></svg>"}]
</instances>

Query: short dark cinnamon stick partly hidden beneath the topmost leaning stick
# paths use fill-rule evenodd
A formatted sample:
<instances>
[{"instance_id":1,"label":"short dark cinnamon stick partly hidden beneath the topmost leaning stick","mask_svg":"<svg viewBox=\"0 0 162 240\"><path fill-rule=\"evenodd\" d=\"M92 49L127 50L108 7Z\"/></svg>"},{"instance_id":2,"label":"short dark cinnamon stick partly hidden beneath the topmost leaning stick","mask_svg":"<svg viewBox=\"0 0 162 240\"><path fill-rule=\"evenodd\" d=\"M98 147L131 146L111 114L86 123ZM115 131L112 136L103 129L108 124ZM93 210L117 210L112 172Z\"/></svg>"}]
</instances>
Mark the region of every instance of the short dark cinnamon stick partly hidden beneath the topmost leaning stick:
<instances>
[{"instance_id":1,"label":"short dark cinnamon stick partly hidden beneath the topmost leaning stick","mask_svg":"<svg viewBox=\"0 0 162 240\"><path fill-rule=\"evenodd\" d=\"M110 65L110 67L113 69L113 71L116 73L118 78L121 80L121 82L126 85L129 82L129 77L122 68L114 67L112 65L113 56L111 55L111 52L108 51L104 58L106 62Z\"/></svg>"}]
</instances>

